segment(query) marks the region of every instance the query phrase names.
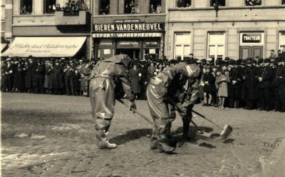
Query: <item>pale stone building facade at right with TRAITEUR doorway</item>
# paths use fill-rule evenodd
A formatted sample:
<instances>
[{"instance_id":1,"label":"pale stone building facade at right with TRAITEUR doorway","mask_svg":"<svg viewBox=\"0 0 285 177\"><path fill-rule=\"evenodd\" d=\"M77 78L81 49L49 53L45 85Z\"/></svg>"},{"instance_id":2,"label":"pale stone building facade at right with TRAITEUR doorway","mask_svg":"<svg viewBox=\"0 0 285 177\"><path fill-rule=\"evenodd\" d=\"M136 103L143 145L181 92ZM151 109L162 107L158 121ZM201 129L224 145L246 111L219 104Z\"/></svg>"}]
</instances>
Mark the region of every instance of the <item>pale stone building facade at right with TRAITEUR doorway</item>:
<instances>
[{"instance_id":1,"label":"pale stone building facade at right with TRAITEUR doorway","mask_svg":"<svg viewBox=\"0 0 285 177\"><path fill-rule=\"evenodd\" d=\"M165 55L266 58L272 49L284 49L284 5L284 0L168 0Z\"/></svg>"}]
</instances>

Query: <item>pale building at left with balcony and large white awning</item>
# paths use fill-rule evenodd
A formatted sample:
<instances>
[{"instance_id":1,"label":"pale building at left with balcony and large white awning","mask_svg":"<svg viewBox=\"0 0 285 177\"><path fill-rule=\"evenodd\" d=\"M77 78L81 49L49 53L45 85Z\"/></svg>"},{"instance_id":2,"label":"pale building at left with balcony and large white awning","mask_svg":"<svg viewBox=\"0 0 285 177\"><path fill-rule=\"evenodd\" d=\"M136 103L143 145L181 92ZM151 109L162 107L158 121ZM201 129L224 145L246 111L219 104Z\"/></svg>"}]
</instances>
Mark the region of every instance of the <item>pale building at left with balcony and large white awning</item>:
<instances>
[{"instance_id":1,"label":"pale building at left with balcony and large white awning","mask_svg":"<svg viewBox=\"0 0 285 177\"><path fill-rule=\"evenodd\" d=\"M56 11L57 4L63 7L66 3L68 0L6 0L5 37L13 42L4 54L88 57L90 13ZM90 0L85 4L90 6Z\"/></svg>"}]
</instances>

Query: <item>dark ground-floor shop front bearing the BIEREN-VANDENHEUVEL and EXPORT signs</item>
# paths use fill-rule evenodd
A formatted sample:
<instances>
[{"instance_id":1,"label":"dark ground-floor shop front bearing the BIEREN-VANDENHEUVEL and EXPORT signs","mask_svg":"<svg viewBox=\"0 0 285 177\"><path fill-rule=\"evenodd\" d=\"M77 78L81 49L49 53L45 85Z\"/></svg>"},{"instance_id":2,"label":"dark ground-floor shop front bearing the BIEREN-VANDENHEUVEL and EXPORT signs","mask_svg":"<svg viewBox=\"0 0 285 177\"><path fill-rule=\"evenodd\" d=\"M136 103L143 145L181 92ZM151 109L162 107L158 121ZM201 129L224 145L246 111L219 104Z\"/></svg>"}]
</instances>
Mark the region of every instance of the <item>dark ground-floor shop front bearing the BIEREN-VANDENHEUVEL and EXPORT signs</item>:
<instances>
[{"instance_id":1,"label":"dark ground-floor shop front bearing the BIEREN-VANDENHEUVEL and EXPORT signs","mask_svg":"<svg viewBox=\"0 0 285 177\"><path fill-rule=\"evenodd\" d=\"M108 58L128 54L132 59L160 59L163 56L164 24L95 24L94 56Z\"/></svg>"}]
</instances>

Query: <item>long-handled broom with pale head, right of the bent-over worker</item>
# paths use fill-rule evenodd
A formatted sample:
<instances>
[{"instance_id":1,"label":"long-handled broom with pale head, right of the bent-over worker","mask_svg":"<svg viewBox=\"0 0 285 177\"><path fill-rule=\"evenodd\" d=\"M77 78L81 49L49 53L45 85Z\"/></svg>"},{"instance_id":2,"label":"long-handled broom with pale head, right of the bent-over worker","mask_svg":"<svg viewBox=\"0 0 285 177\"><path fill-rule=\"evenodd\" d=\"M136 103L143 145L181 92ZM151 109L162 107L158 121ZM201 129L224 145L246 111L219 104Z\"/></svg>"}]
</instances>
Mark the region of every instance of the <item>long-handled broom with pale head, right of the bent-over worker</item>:
<instances>
[{"instance_id":1,"label":"long-handled broom with pale head, right of the bent-over worker","mask_svg":"<svg viewBox=\"0 0 285 177\"><path fill-rule=\"evenodd\" d=\"M179 106L177 106L175 101L172 100L172 98L167 97L167 99L168 99L168 101L170 101L172 106L175 106L175 108L177 108L177 111L182 111L181 108ZM209 118L207 118L206 116L202 115L201 113L198 113L197 111L194 111L194 110L192 110L192 112L196 113L198 116L204 118L206 121L209 121L214 126L217 126L218 128L222 129L222 133L220 133L220 137L222 139L227 139L227 137L229 137L229 134L232 133L232 126L229 126L229 124L226 124L224 126L224 128L222 128L222 126L219 126L217 123L214 123L214 121L211 121Z\"/></svg>"}]
</instances>

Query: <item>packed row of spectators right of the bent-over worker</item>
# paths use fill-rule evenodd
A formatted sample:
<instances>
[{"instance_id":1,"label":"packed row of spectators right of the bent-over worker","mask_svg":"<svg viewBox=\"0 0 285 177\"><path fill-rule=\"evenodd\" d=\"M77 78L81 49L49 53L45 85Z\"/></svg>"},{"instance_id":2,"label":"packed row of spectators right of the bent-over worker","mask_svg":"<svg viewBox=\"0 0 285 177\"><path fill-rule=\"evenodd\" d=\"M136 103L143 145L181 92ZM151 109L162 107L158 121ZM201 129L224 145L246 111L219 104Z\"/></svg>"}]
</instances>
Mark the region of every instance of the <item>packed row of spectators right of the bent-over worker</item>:
<instances>
[{"instance_id":1,"label":"packed row of spectators right of the bent-over worker","mask_svg":"<svg viewBox=\"0 0 285 177\"><path fill-rule=\"evenodd\" d=\"M285 111L284 58L201 64L204 106Z\"/></svg>"}]
</instances>

